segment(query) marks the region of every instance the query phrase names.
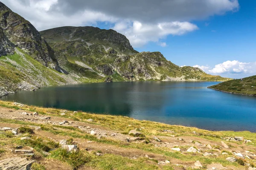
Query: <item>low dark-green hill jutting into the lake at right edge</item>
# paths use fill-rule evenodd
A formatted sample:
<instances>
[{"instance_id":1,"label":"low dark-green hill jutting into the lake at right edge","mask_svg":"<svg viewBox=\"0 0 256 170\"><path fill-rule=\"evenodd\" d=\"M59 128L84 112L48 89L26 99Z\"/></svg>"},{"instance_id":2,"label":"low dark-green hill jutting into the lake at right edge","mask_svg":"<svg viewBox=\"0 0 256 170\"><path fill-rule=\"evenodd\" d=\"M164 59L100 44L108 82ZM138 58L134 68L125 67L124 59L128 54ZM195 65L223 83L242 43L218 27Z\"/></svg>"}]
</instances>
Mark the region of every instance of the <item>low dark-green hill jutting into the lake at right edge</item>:
<instances>
[{"instance_id":1,"label":"low dark-green hill jutting into the lake at right edge","mask_svg":"<svg viewBox=\"0 0 256 170\"><path fill-rule=\"evenodd\" d=\"M256 76L233 79L218 85L210 86L209 88L234 94L256 96Z\"/></svg>"}]
</instances>

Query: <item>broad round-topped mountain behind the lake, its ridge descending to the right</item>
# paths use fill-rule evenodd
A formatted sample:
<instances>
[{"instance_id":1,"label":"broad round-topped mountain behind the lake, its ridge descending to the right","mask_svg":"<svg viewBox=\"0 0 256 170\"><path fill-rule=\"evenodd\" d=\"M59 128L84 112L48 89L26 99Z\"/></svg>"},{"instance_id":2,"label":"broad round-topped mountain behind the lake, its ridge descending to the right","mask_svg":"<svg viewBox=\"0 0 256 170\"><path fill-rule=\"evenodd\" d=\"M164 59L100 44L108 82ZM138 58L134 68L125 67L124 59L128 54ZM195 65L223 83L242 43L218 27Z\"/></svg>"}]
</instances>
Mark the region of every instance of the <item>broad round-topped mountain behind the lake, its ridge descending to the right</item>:
<instances>
[{"instance_id":1,"label":"broad round-topped mountain behind the lake, its ridge descending to the right","mask_svg":"<svg viewBox=\"0 0 256 170\"><path fill-rule=\"evenodd\" d=\"M77 65L113 81L226 81L199 68L179 67L160 52L137 52L122 34L91 26L41 31L67 71Z\"/></svg>"}]
</instances>

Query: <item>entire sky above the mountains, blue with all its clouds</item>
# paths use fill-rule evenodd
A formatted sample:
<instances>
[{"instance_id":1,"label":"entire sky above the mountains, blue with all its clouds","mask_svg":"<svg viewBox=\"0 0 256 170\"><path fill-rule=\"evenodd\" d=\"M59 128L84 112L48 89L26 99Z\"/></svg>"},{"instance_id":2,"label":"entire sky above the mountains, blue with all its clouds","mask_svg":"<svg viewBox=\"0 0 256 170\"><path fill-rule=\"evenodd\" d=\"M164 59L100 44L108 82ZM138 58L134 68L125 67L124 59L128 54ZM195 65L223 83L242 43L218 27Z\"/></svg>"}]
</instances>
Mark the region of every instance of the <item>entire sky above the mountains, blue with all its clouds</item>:
<instances>
[{"instance_id":1,"label":"entire sky above the mountains, blue with all its clouds","mask_svg":"<svg viewBox=\"0 0 256 170\"><path fill-rule=\"evenodd\" d=\"M256 75L256 0L1 0L38 31L96 26L213 75Z\"/></svg>"}]
</instances>

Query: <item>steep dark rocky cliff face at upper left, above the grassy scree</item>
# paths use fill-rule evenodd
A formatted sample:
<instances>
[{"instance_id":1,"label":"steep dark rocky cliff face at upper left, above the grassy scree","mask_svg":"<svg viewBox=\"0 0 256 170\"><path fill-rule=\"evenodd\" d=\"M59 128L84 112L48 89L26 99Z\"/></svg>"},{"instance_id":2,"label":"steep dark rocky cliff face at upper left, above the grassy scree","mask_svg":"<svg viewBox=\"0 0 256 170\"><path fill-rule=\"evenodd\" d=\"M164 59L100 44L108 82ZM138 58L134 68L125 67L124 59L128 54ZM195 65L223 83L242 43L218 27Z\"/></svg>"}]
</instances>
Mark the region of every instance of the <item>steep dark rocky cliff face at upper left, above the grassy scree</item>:
<instances>
[{"instance_id":1,"label":"steep dark rocky cliff face at upper left, above the grassy scree","mask_svg":"<svg viewBox=\"0 0 256 170\"><path fill-rule=\"evenodd\" d=\"M3 44L1 47L5 49L6 54L13 52L13 48L6 48L6 45L7 47L10 46L8 42L11 42L13 46L19 47L44 66L61 71L54 51L48 43L41 38L36 28L29 23L29 21L13 12L1 2L0 34L1 37L8 39L4 40L4 42L0 42Z\"/></svg>"}]
</instances>

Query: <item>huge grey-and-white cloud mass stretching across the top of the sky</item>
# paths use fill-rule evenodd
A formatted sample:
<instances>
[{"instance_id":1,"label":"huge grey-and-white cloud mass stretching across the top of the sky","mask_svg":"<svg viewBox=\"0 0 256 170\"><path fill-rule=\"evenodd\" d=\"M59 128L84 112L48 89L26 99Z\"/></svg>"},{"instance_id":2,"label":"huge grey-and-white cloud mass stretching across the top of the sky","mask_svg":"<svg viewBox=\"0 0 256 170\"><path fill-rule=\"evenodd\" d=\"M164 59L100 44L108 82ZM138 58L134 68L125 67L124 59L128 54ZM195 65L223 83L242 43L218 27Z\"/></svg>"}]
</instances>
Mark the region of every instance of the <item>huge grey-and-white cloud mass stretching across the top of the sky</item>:
<instances>
[{"instance_id":1,"label":"huge grey-and-white cloud mass stretching across the top of the sky","mask_svg":"<svg viewBox=\"0 0 256 170\"><path fill-rule=\"evenodd\" d=\"M2 0L38 30L58 26L98 26L104 22L125 34L134 47L183 35L192 20L239 9L238 0Z\"/></svg>"}]
</instances>

